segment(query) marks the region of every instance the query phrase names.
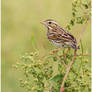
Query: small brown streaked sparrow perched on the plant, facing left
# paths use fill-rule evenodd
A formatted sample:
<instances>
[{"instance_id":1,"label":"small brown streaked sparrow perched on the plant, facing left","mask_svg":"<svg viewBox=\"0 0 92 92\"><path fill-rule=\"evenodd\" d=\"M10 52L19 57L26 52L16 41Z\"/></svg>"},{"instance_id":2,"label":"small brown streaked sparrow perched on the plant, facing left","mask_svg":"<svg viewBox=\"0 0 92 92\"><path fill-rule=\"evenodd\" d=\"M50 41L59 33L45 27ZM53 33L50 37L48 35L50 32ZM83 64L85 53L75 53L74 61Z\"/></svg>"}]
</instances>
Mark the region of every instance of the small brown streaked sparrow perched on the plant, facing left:
<instances>
[{"instance_id":1,"label":"small brown streaked sparrow perched on the plant, facing left","mask_svg":"<svg viewBox=\"0 0 92 92\"><path fill-rule=\"evenodd\" d=\"M61 28L58 23L52 19L41 22L47 28L47 37L49 41L57 47L72 47L79 49L76 39L69 32Z\"/></svg>"}]
</instances>

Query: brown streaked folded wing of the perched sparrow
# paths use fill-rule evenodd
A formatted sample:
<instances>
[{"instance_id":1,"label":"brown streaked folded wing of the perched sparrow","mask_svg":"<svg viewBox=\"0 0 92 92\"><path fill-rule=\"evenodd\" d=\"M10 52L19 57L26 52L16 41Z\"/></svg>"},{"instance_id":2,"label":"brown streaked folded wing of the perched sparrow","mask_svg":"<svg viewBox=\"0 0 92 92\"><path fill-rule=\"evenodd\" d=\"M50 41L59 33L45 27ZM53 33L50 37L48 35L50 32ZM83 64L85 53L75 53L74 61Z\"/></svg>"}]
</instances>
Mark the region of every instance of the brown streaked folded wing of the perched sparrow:
<instances>
[{"instance_id":1,"label":"brown streaked folded wing of the perched sparrow","mask_svg":"<svg viewBox=\"0 0 92 92\"><path fill-rule=\"evenodd\" d=\"M71 43L76 43L76 39L74 38L73 35L68 33L64 29L57 29L57 30L50 30L51 32L48 32L48 39L55 40L58 42L71 42Z\"/></svg>"}]
</instances>

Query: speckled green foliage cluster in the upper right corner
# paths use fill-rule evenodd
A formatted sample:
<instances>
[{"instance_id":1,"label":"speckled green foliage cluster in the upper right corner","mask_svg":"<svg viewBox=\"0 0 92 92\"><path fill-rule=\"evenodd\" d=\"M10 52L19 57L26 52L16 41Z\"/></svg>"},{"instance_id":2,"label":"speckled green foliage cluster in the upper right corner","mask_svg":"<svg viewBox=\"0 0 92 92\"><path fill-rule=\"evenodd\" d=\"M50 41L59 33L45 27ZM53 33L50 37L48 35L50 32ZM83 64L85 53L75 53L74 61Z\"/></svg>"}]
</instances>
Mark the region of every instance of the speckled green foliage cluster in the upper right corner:
<instances>
[{"instance_id":1,"label":"speckled green foliage cluster in the upper right corner","mask_svg":"<svg viewBox=\"0 0 92 92\"><path fill-rule=\"evenodd\" d=\"M67 30L75 24L84 24L91 17L91 0L74 0L72 3L72 18L66 26Z\"/></svg>"}]
</instances>

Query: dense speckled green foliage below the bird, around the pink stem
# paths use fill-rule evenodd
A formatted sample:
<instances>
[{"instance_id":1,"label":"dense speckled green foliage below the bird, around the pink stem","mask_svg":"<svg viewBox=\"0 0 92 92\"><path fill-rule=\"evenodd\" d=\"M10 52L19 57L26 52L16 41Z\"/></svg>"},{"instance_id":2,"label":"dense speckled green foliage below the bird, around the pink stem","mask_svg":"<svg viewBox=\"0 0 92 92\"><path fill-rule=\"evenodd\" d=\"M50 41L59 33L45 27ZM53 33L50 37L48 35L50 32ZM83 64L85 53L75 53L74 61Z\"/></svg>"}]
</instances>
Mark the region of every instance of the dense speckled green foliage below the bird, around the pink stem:
<instances>
[{"instance_id":1,"label":"dense speckled green foliage below the bird, around the pink stem","mask_svg":"<svg viewBox=\"0 0 92 92\"><path fill-rule=\"evenodd\" d=\"M38 52L26 53L22 56L21 61L15 66L24 76L20 80L20 86L25 88L27 92L59 92L66 69L54 54L66 64L69 64L73 57L73 53L67 54L66 58L61 56L61 53L62 51L57 51L48 54L45 58L41 58ZM89 61L88 57L77 56L64 84L64 87L73 86L73 88L66 89L65 92L82 92L82 90L90 92Z\"/></svg>"}]
</instances>

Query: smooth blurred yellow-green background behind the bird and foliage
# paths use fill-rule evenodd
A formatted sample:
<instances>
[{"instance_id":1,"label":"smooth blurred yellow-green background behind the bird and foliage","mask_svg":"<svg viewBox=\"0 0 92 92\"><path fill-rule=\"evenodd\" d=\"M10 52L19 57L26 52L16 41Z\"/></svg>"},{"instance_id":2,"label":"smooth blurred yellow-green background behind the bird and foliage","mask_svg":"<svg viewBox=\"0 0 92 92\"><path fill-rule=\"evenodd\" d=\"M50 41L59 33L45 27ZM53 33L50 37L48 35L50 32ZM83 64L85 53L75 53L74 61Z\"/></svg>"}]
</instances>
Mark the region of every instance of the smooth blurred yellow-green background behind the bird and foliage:
<instances>
[{"instance_id":1,"label":"smooth blurred yellow-green background behind the bird and foliage","mask_svg":"<svg viewBox=\"0 0 92 92\"><path fill-rule=\"evenodd\" d=\"M2 92L24 92L18 83L21 74L12 66L26 52L46 54L55 48L40 22L51 18L65 28L72 17L71 5L72 0L2 0ZM78 38L81 29L76 25L71 33ZM82 41L90 53L90 25Z\"/></svg>"}]
</instances>

